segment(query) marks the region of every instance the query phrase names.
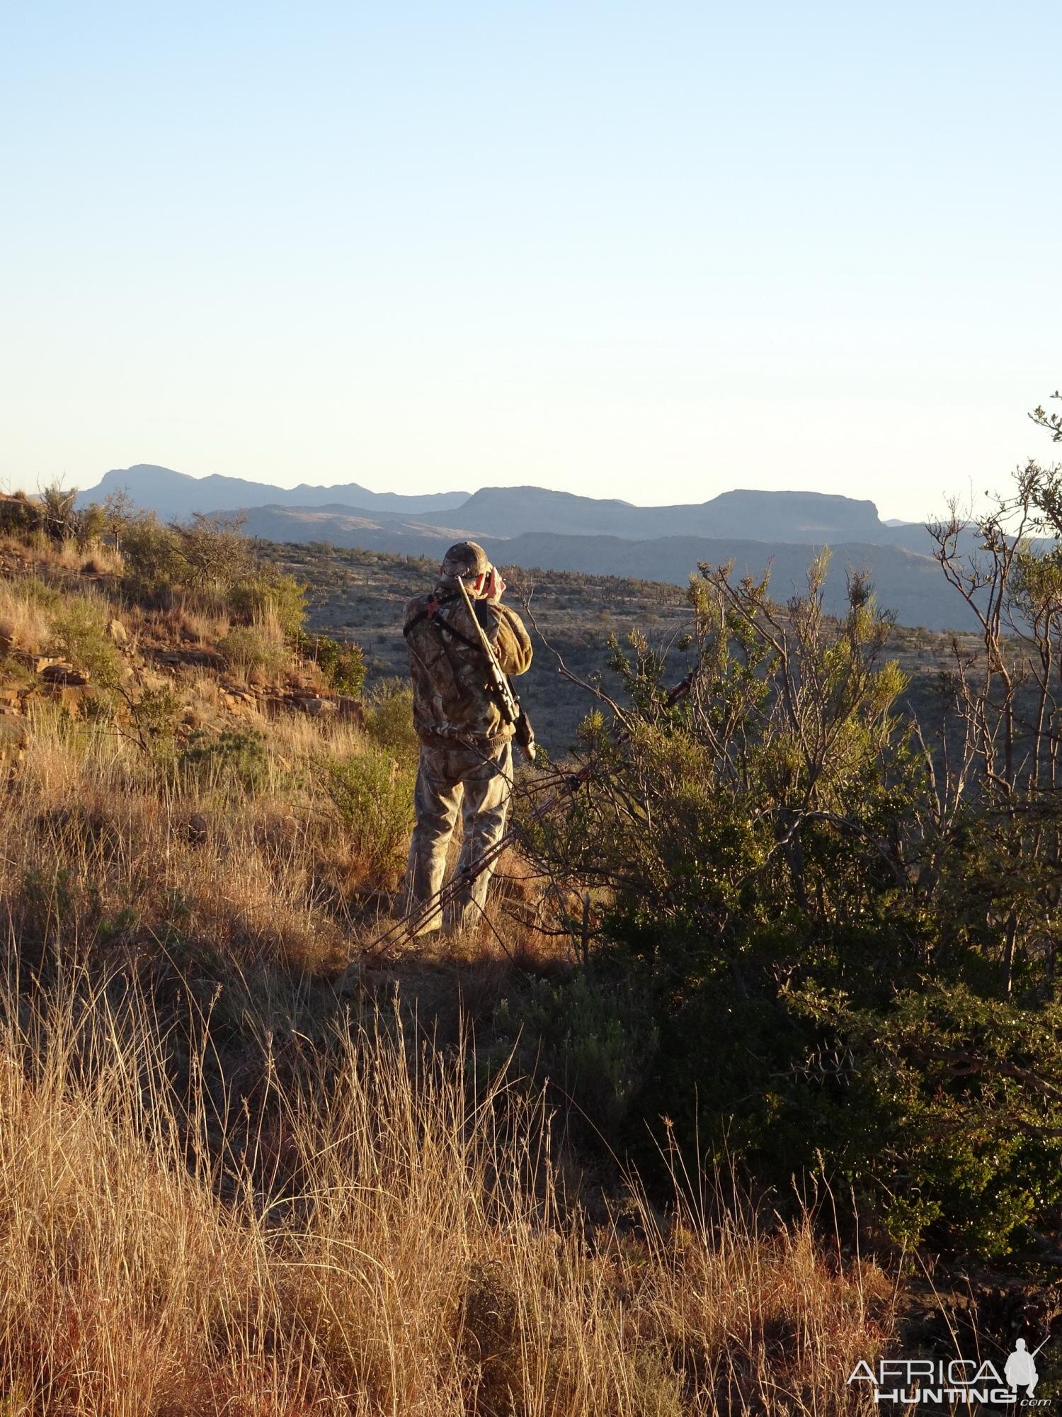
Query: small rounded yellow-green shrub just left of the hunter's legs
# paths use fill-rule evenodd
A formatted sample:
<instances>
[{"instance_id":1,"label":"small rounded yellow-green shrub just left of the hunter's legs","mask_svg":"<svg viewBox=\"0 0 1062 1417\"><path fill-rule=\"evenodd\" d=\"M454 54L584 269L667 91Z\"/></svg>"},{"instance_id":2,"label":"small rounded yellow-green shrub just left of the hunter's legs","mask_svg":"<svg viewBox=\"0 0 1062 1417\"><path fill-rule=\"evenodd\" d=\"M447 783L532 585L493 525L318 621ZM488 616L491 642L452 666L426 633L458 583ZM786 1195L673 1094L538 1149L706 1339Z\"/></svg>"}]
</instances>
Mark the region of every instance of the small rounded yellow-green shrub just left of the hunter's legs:
<instances>
[{"instance_id":1,"label":"small rounded yellow-green shrub just left of the hunter's legs","mask_svg":"<svg viewBox=\"0 0 1062 1417\"><path fill-rule=\"evenodd\" d=\"M413 771L375 745L320 762L324 792L367 880L394 881L413 825Z\"/></svg>"}]
</instances>

